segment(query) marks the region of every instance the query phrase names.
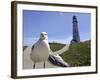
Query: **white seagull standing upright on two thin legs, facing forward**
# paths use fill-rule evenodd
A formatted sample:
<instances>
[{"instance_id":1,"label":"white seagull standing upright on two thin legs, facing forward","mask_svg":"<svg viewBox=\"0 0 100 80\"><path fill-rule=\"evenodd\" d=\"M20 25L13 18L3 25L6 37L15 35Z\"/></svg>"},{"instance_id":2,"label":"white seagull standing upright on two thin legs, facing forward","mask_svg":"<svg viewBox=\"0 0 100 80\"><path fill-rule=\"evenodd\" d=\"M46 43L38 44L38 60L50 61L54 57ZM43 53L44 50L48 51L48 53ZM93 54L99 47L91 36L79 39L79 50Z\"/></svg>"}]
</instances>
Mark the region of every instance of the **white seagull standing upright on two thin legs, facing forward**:
<instances>
[{"instance_id":1,"label":"white seagull standing upright on two thin legs, facing forward","mask_svg":"<svg viewBox=\"0 0 100 80\"><path fill-rule=\"evenodd\" d=\"M45 68L45 61L49 57L50 46L48 44L48 36L46 32L41 32L39 40L32 46L31 60L34 62L33 68L37 62L43 62Z\"/></svg>"}]
</instances>

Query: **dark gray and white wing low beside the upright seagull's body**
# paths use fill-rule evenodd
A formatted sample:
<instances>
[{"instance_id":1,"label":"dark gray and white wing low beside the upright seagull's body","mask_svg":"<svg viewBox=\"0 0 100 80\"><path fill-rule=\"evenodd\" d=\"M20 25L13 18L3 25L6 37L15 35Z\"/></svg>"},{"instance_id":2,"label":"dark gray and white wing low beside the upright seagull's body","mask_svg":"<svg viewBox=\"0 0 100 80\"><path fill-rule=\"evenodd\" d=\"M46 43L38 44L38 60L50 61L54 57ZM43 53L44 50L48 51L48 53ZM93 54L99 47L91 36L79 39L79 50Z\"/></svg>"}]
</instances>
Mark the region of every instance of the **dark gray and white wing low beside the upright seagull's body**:
<instances>
[{"instance_id":1,"label":"dark gray and white wing low beside the upright seagull's body","mask_svg":"<svg viewBox=\"0 0 100 80\"><path fill-rule=\"evenodd\" d=\"M51 64L56 65L56 66L60 66L60 67L68 67L69 66L69 64L66 63L60 56L57 57L57 56L52 55L52 54L49 55L48 61Z\"/></svg>"}]
</instances>

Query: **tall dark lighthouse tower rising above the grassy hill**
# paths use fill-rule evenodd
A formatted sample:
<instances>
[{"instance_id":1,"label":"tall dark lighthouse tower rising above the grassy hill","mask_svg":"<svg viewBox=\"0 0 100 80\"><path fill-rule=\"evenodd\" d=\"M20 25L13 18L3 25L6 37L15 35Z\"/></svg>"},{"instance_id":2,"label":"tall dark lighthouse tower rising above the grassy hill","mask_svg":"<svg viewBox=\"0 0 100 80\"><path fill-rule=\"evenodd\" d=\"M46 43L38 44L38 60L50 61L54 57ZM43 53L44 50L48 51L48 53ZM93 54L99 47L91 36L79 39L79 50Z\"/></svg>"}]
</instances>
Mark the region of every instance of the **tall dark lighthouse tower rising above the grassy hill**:
<instances>
[{"instance_id":1,"label":"tall dark lighthouse tower rising above the grassy hill","mask_svg":"<svg viewBox=\"0 0 100 80\"><path fill-rule=\"evenodd\" d=\"M79 31L78 31L78 21L76 16L73 16L72 18L72 24L73 24L73 39L71 40L71 44L74 43L80 43L80 36L79 36Z\"/></svg>"}]
</instances>

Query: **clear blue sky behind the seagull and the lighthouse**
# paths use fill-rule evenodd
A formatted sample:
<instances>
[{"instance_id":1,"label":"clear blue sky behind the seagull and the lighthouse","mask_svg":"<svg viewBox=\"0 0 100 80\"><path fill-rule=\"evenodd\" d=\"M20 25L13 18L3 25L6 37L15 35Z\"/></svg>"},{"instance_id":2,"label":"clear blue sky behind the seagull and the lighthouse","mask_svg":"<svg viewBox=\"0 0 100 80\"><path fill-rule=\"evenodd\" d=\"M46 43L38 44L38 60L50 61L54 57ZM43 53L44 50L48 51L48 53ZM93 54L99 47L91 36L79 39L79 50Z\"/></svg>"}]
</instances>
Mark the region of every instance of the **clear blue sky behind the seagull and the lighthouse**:
<instances>
[{"instance_id":1,"label":"clear blue sky behind the seagull and the lighthouse","mask_svg":"<svg viewBox=\"0 0 100 80\"><path fill-rule=\"evenodd\" d=\"M34 44L41 32L47 32L49 42L70 43L72 17L77 17L81 41L90 39L91 14L23 10L23 43Z\"/></svg>"}]
</instances>

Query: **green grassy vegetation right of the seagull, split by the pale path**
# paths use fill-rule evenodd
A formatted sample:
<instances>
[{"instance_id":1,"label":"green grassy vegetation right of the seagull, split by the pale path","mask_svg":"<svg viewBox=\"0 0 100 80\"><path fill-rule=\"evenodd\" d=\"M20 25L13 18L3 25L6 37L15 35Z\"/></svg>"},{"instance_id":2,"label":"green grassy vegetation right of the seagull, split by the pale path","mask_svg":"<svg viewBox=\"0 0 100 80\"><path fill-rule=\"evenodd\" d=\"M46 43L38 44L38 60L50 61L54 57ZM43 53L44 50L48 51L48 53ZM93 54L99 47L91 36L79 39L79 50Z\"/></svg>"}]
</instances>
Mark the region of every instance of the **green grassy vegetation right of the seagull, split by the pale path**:
<instances>
[{"instance_id":1,"label":"green grassy vegetation right of the seagull, split by the pale path","mask_svg":"<svg viewBox=\"0 0 100 80\"><path fill-rule=\"evenodd\" d=\"M60 43L50 43L52 51L57 51L65 46ZM71 66L90 66L91 52L90 41L70 45L69 50L60 56Z\"/></svg>"}]
</instances>

